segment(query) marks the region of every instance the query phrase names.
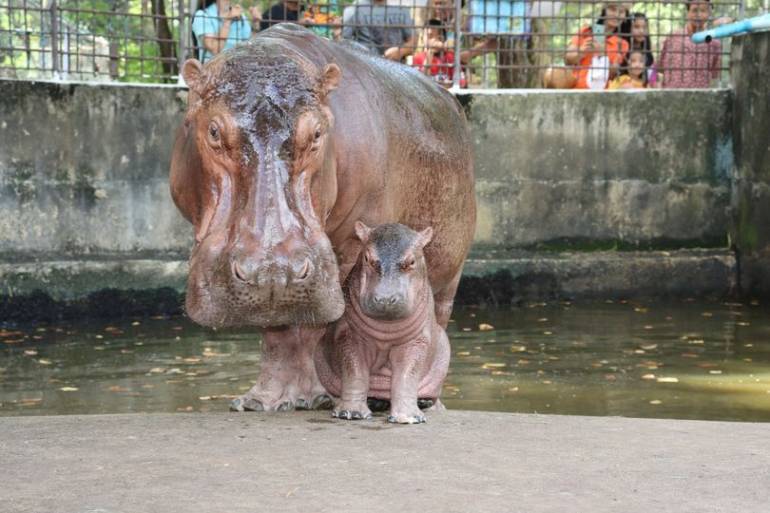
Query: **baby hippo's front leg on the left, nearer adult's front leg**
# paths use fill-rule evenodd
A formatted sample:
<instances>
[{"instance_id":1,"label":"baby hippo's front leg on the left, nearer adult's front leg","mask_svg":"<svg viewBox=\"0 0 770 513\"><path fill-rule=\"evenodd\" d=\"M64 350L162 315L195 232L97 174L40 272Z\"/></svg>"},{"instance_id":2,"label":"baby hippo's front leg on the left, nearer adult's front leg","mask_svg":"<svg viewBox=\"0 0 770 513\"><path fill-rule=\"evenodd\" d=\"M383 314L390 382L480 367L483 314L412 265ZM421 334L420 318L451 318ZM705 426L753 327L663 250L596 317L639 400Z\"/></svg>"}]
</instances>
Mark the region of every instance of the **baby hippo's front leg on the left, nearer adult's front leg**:
<instances>
[{"instance_id":1,"label":"baby hippo's front leg on the left, nearer adult's front leg","mask_svg":"<svg viewBox=\"0 0 770 513\"><path fill-rule=\"evenodd\" d=\"M347 338L347 337L346 337ZM341 397L335 400L332 416L346 420L371 419L372 412L366 405L369 393L369 361L365 348L353 337L340 344Z\"/></svg>"}]
</instances>

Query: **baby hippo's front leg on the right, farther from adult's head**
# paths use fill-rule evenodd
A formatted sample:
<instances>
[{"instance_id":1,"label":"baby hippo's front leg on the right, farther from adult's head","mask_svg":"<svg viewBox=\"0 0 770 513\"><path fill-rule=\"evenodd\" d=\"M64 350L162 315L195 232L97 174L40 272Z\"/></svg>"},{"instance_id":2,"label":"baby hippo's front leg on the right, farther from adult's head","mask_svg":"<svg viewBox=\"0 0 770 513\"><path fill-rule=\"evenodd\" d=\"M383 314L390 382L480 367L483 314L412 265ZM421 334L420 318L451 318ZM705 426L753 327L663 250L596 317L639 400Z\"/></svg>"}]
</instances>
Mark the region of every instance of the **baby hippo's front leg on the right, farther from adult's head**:
<instances>
[{"instance_id":1,"label":"baby hippo's front leg on the right, farther from adult's head","mask_svg":"<svg viewBox=\"0 0 770 513\"><path fill-rule=\"evenodd\" d=\"M417 392L424 373L427 352L427 343L422 340L396 346L390 350L393 379L388 422L398 424L425 422L425 415L417 406Z\"/></svg>"}]
</instances>

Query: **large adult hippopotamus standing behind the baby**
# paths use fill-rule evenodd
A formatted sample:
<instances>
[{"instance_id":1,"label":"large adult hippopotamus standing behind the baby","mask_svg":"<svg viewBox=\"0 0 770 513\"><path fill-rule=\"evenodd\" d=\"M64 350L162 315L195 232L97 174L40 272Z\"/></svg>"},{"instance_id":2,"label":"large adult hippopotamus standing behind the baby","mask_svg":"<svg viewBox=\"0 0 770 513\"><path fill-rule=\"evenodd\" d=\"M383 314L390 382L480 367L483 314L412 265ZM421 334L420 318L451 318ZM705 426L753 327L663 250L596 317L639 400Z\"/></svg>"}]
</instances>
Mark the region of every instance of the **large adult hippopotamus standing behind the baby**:
<instances>
[{"instance_id":1,"label":"large adult hippopotamus standing behind the baby","mask_svg":"<svg viewBox=\"0 0 770 513\"><path fill-rule=\"evenodd\" d=\"M170 185L195 233L186 310L206 326L264 328L257 384L233 409L326 399L313 352L343 314L357 220L433 227L425 258L446 326L476 215L471 142L451 94L289 24L182 73L189 107Z\"/></svg>"}]
</instances>

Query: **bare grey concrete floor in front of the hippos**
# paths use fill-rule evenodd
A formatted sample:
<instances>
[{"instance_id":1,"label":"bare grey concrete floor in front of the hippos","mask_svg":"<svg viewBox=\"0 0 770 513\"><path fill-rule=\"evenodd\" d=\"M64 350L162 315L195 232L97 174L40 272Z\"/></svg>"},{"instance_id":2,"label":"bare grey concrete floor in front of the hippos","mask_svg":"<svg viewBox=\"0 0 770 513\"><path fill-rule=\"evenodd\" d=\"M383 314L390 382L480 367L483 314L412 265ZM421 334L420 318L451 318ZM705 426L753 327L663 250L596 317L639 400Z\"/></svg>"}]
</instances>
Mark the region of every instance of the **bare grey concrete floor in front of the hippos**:
<instances>
[{"instance_id":1,"label":"bare grey concrete floor in front of the hippos","mask_svg":"<svg viewBox=\"0 0 770 513\"><path fill-rule=\"evenodd\" d=\"M2 510L759 512L763 424L328 412L0 419Z\"/></svg>"}]
</instances>

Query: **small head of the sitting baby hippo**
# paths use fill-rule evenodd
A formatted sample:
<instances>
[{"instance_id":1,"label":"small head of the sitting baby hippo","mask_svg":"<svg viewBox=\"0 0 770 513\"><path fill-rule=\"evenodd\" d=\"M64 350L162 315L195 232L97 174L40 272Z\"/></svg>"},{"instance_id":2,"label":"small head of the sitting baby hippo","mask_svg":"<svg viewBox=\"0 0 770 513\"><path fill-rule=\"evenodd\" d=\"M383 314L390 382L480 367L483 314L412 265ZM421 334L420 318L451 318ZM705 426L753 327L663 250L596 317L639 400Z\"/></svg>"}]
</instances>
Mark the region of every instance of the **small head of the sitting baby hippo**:
<instances>
[{"instance_id":1,"label":"small head of the sitting baby hippo","mask_svg":"<svg viewBox=\"0 0 770 513\"><path fill-rule=\"evenodd\" d=\"M358 272L361 311L374 319L394 321L409 317L429 287L423 248L433 237L428 227L416 232L402 224L371 229L356 222L363 248Z\"/></svg>"}]
</instances>

